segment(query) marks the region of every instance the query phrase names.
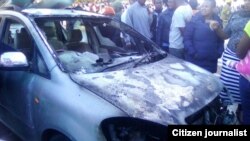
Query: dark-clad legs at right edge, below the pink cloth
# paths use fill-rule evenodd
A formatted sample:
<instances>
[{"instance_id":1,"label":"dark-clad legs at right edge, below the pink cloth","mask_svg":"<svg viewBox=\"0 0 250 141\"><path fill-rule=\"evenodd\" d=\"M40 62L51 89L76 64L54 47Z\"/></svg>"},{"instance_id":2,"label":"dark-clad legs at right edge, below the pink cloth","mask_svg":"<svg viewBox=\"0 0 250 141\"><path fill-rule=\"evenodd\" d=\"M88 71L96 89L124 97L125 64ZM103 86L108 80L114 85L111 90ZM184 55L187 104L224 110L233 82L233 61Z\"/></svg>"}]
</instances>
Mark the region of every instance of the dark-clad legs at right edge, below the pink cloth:
<instances>
[{"instance_id":1,"label":"dark-clad legs at right edge, below the pink cloth","mask_svg":"<svg viewBox=\"0 0 250 141\"><path fill-rule=\"evenodd\" d=\"M250 125L250 82L240 77L240 95L242 101L243 124Z\"/></svg>"}]
</instances>

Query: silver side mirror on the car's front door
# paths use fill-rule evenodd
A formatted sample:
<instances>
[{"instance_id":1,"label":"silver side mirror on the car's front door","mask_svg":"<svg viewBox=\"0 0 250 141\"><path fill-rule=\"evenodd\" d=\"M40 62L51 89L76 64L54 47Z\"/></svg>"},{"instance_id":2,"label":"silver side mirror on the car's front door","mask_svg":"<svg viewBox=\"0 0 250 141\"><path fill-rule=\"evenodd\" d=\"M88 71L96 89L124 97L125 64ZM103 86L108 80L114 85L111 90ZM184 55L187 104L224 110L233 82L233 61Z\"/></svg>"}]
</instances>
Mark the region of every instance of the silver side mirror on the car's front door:
<instances>
[{"instance_id":1,"label":"silver side mirror on the car's front door","mask_svg":"<svg viewBox=\"0 0 250 141\"><path fill-rule=\"evenodd\" d=\"M22 52L5 52L0 55L0 70L23 70L29 63Z\"/></svg>"}]
</instances>

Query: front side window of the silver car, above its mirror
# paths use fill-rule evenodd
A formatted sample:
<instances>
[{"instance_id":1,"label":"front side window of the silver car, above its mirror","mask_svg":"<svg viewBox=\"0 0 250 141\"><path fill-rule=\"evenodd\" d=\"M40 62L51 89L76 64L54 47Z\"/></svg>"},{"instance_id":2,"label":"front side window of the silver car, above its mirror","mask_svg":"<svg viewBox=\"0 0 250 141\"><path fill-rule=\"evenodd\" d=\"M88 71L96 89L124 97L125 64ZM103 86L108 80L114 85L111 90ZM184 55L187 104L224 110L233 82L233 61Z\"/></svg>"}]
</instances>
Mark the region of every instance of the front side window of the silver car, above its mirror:
<instances>
[{"instance_id":1,"label":"front side window of the silver car, above its mirror","mask_svg":"<svg viewBox=\"0 0 250 141\"><path fill-rule=\"evenodd\" d=\"M17 20L6 19L4 30L1 42L7 48L10 48L8 50L23 52L30 63L30 71L47 76L48 71L45 62L38 53L37 45L24 24Z\"/></svg>"}]
</instances>

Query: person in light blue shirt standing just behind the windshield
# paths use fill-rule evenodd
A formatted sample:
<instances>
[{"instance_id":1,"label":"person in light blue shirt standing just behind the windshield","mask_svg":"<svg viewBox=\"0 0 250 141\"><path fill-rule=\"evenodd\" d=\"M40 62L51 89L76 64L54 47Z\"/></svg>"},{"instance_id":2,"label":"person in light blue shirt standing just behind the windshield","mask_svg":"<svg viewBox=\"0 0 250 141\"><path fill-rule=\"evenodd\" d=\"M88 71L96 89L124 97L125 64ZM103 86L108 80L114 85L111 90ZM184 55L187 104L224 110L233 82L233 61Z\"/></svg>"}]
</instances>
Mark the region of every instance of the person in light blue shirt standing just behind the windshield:
<instances>
[{"instance_id":1,"label":"person in light blue shirt standing just behind the windshield","mask_svg":"<svg viewBox=\"0 0 250 141\"><path fill-rule=\"evenodd\" d=\"M151 39L150 25L153 18L152 13L145 6L145 1L137 0L128 8L125 23L148 39Z\"/></svg>"}]
</instances>

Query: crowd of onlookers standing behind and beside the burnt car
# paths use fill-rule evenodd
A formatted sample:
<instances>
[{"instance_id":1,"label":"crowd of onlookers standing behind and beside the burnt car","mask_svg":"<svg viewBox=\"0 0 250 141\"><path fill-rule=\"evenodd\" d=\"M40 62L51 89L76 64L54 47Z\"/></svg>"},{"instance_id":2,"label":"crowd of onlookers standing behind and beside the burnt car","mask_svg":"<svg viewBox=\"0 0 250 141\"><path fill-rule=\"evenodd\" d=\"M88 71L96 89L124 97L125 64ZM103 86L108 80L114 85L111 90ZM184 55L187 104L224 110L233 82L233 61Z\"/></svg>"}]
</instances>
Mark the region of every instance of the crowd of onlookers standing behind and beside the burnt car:
<instances>
[{"instance_id":1,"label":"crowd of onlookers standing behind and beside the burnt car","mask_svg":"<svg viewBox=\"0 0 250 141\"><path fill-rule=\"evenodd\" d=\"M250 124L250 82L226 63L244 58L237 51L242 48L242 37L249 38L250 32L246 30L249 28L245 26L250 20L250 0L244 0L241 5L237 0L224 0L221 7L215 0L202 3L152 0L151 4L146 4L146 0L129 0L128 3L115 1L99 5L75 3L73 7L112 16L163 50L211 73L218 71L218 59L222 58L220 79L224 89L220 97L223 103L238 104L243 114L242 123ZM249 48L243 48L246 54Z\"/></svg>"}]
</instances>

